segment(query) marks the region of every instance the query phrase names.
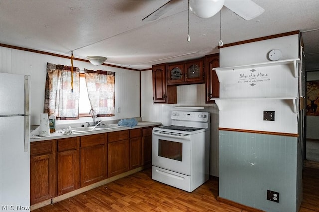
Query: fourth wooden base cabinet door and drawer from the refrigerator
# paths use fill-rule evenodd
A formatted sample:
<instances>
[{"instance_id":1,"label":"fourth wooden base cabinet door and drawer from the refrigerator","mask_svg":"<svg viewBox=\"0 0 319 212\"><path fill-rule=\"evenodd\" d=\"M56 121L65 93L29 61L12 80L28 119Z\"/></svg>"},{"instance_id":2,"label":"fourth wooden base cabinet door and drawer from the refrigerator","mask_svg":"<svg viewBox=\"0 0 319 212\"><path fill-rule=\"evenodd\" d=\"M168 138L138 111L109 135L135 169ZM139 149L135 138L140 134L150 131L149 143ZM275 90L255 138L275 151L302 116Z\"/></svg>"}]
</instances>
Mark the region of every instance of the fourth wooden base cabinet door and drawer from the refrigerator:
<instances>
[{"instance_id":1,"label":"fourth wooden base cabinet door and drawer from the refrigerator","mask_svg":"<svg viewBox=\"0 0 319 212\"><path fill-rule=\"evenodd\" d=\"M129 171L129 130L109 132L108 177Z\"/></svg>"}]
</instances>

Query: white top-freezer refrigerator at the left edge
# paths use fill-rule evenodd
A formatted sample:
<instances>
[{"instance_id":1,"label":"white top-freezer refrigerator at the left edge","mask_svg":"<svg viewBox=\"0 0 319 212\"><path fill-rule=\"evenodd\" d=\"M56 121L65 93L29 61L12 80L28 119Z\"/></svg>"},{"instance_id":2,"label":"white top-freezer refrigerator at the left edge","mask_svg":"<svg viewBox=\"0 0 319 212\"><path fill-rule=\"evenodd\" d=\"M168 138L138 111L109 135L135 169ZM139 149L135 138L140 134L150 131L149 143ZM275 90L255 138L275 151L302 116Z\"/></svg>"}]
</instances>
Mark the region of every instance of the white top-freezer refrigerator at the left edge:
<instances>
[{"instance_id":1,"label":"white top-freezer refrigerator at the left edge","mask_svg":"<svg viewBox=\"0 0 319 212\"><path fill-rule=\"evenodd\" d=\"M30 116L26 75L0 73L0 211L30 211Z\"/></svg>"}]
</instances>

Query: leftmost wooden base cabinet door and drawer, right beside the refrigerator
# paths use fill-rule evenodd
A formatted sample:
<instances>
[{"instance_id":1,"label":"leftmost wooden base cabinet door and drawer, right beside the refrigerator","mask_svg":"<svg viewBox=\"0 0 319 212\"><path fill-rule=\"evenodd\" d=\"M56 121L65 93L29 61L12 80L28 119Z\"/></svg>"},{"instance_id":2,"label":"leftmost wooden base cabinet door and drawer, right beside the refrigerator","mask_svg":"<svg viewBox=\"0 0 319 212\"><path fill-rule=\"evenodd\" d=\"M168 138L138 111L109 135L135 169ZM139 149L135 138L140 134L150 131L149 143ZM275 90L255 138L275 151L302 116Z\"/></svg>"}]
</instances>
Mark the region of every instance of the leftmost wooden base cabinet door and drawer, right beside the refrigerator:
<instances>
[{"instance_id":1,"label":"leftmost wooden base cabinet door and drawer, right beside the refrigerator","mask_svg":"<svg viewBox=\"0 0 319 212\"><path fill-rule=\"evenodd\" d=\"M32 205L56 196L55 141L31 142L30 148Z\"/></svg>"}]
</instances>

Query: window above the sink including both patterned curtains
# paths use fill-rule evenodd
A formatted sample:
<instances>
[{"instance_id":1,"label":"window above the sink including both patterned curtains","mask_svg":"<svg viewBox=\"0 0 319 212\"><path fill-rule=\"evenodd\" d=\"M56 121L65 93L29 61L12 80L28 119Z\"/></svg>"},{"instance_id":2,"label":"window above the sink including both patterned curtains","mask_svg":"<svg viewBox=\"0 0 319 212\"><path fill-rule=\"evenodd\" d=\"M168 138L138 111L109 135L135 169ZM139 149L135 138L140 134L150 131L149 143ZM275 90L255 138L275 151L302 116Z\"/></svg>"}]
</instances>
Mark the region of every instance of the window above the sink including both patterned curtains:
<instances>
[{"instance_id":1,"label":"window above the sink including both patterned curtains","mask_svg":"<svg viewBox=\"0 0 319 212\"><path fill-rule=\"evenodd\" d=\"M47 63L45 113L69 120L89 116L92 108L98 117L114 116L115 72L84 71Z\"/></svg>"}]
</instances>

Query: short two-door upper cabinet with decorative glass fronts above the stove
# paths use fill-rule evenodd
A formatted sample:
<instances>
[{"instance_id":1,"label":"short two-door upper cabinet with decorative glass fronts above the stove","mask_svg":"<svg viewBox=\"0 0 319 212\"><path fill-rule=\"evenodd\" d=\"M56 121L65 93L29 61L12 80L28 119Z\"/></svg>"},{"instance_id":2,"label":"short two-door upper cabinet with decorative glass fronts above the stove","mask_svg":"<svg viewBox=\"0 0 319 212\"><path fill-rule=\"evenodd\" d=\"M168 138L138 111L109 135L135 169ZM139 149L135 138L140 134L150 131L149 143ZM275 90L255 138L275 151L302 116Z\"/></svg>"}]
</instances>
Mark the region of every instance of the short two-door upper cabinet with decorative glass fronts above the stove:
<instances>
[{"instance_id":1,"label":"short two-door upper cabinet with decorative glass fronts above the stove","mask_svg":"<svg viewBox=\"0 0 319 212\"><path fill-rule=\"evenodd\" d=\"M167 75L168 85L205 83L204 59L169 63Z\"/></svg>"}]
</instances>

